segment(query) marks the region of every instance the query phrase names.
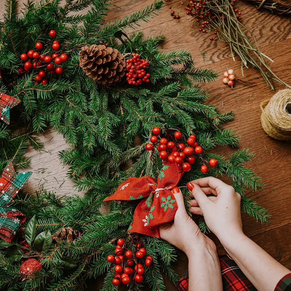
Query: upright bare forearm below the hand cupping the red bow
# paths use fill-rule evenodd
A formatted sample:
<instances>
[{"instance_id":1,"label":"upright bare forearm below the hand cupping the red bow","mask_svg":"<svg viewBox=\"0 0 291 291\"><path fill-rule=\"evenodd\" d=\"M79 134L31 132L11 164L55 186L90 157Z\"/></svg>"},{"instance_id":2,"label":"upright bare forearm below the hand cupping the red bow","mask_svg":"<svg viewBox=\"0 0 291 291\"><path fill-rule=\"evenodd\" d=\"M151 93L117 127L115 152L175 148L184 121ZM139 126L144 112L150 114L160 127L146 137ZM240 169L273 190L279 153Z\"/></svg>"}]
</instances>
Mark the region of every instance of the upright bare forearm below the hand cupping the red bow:
<instances>
[{"instance_id":1,"label":"upright bare forearm below the hand cupping the red bow","mask_svg":"<svg viewBox=\"0 0 291 291\"><path fill-rule=\"evenodd\" d=\"M195 249L188 255L189 291L221 291L219 259L213 249Z\"/></svg>"}]
</instances>

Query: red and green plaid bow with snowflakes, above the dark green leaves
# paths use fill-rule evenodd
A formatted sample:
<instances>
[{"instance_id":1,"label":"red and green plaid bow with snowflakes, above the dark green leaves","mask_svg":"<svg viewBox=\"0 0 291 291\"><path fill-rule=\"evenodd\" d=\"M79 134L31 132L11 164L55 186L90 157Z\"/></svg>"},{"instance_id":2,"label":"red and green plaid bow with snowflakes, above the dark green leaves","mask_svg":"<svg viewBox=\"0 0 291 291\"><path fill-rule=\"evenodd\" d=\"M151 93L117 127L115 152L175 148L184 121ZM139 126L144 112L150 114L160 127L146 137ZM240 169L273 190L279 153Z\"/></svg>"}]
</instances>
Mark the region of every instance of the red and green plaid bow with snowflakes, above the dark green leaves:
<instances>
[{"instance_id":1,"label":"red and green plaid bow with snowflakes, above the dark green leaves","mask_svg":"<svg viewBox=\"0 0 291 291\"><path fill-rule=\"evenodd\" d=\"M9 204L26 183L32 172L16 174L12 162L4 169L0 178L0 237L11 242L26 217Z\"/></svg>"}]
</instances>

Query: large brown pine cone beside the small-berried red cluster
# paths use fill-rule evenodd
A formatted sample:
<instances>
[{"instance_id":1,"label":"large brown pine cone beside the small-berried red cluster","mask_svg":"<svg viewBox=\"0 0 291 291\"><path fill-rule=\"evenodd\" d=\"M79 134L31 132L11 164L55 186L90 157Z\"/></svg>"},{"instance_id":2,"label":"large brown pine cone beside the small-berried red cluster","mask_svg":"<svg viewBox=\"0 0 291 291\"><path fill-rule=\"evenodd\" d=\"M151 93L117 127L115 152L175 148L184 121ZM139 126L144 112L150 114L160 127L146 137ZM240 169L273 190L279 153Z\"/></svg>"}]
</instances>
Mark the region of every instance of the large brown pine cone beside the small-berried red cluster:
<instances>
[{"instance_id":1,"label":"large brown pine cone beside the small-berried red cluster","mask_svg":"<svg viewBox=\"0 0 291 291\"><path fill-rule=\"evenodd\" d=\"M84 46L79 55L81 68L98 84L115 85L125 75L125 58L117 49L105 45Z\"/></svg>"}]
</instances>

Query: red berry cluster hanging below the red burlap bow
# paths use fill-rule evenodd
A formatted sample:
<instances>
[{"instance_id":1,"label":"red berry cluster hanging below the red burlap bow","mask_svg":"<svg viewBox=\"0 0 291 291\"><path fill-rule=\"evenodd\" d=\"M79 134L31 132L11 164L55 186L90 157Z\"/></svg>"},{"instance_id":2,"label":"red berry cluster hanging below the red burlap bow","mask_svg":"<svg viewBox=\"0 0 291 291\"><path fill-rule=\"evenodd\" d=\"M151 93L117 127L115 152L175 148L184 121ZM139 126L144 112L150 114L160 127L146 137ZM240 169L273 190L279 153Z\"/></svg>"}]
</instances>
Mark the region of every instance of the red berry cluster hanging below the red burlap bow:
<instances>
[{"instance_id":1,"label":"red berry cluster hanging below the red burlap bow","mask_svg":"<svg viewBox=\"0 0 291 291\"><path fill-rule=\"evenodd\" d=\"M132 250L134 250L135 254ZM115 255L107 256L107 261L115 265L112 284L118 286L122 282L127 285L131 281L131 276L133 276L134 282L141 283L143 281L143 273L145 272L141 263L147 251L144 245L139 242L138 236L132 238L131 235L128 235L126 239L119 238L114 253ZM146 256L144 264L147 267L150 266L152 264L152 257Z\"/></svg>"}]
</instances>

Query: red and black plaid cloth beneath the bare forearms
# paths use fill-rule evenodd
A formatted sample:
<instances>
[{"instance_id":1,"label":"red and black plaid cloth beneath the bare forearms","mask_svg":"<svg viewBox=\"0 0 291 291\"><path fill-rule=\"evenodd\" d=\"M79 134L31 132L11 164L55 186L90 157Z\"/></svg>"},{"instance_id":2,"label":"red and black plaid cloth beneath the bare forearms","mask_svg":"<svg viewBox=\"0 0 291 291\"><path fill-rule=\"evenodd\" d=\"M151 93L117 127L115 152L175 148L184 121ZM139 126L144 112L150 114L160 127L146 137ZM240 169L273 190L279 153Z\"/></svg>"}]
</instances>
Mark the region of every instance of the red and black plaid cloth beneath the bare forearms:
<instances>
[{"instance_id":1,"label":"red and black plaid cloth beneath the bare forearms","mask_svg":"<svg viewBox=\"0 0 291 291\"><path fill-rule=\"evenodd\" d=\"M257 291L254 285L229 255L219 256L223 291ZM189 290L188 269L175 284L180 291ZM278 289L280 290L280 289ZM283 289L285 290L285 289ZM287 291L288 289L286 289Z\"/></svg>"}]
</instances>

